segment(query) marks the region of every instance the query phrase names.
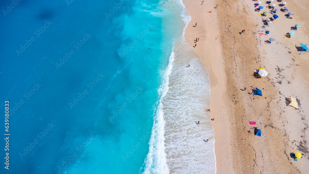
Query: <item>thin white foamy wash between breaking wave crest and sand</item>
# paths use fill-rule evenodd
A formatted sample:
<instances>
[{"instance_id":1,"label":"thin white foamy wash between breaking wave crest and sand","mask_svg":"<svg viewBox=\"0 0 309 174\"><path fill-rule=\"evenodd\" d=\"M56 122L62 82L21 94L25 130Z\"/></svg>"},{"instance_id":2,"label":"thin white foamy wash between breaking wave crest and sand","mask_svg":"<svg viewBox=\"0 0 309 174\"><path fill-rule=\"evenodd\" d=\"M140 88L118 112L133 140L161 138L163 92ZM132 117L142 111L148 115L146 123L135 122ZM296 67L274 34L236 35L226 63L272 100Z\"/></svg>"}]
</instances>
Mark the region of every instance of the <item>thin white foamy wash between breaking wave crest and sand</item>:
<instances>
[{"instance_id":1,"label":"thin white foamy wash between breaking wave crest and sand","mask_svg":"<svg viewBox=\"0 0 309 174\"><path fill-rule=\"evenodd\" d=\"M208 73L188 44L176 44L174 52L169 87L162 101L167 165L171 173L215 173L214 132L204 111L210 103ZM204 141L207 138L209 142Z\"/></svg>"}]
</instances>

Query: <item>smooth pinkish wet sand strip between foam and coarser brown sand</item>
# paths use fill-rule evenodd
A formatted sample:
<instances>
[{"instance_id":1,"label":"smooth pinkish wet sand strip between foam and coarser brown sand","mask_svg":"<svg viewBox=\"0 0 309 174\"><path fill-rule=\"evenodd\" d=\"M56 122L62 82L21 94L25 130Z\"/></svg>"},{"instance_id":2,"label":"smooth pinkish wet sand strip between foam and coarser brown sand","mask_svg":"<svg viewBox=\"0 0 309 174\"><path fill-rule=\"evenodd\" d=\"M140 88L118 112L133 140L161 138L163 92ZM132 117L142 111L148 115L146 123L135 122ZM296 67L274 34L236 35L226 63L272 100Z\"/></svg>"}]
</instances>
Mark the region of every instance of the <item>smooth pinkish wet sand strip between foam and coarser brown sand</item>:
<instances>
[{"instance_id":1,"label":"smooth pinkish wet sand strip between foam and coarser brown sand","mask_svg":"<svg viewBox=\"0 0 309 174\"><path fill-rule=\"evenodd\" d=\"M204 2L191 2L184 0L183 3L191 16L191 21L185 29L185 41L194 46L194 40L199 37L195 52L199 55L203 66L208 72L210 80L210 109L208 114L215 121L211 121L214 129L214 152L216 160L216 172L218 173L233 173L231 163L231 151L229 146L230 129L227 124L228 106L225 97L225 74L223 58L221 56L220 33L217 25L217 12L214 7L214 0ZM211 5L212 4L212 5ZM204 11L204 12L201 12ZM207 13L212 11L212 13ZM193 27L197 22L197 27ZM214 42L214 44L212 43ZM228 160L226 160L228 159ZM222 163L225 166L222 167ZM226 167L228 166L228 167Z\"/></svg>"}]
</instances>

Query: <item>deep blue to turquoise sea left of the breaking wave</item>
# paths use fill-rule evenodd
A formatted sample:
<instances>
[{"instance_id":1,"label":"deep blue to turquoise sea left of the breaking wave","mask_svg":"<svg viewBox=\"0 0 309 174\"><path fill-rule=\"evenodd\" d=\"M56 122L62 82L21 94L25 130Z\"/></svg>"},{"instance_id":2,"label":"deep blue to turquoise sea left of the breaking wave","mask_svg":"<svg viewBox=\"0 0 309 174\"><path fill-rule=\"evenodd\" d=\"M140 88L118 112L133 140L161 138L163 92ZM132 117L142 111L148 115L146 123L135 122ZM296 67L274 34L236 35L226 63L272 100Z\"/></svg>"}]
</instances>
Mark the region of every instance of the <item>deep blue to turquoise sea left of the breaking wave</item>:
<instances>
[{"instance_id":1,"label":"deep blue to turquoise sea left of the breaking wave","mask_svg":"<svg viewBox=\"0 0 309 174\"><path fill-rule=\"evenodd\" d=\"M2 113L10 102L11 134L1 171L143 172L173 46L164 40L183 26L163 31L181 20L163 26L156 0L12 3L0 2L0 102Z\"/></svg>"}]
</instances>

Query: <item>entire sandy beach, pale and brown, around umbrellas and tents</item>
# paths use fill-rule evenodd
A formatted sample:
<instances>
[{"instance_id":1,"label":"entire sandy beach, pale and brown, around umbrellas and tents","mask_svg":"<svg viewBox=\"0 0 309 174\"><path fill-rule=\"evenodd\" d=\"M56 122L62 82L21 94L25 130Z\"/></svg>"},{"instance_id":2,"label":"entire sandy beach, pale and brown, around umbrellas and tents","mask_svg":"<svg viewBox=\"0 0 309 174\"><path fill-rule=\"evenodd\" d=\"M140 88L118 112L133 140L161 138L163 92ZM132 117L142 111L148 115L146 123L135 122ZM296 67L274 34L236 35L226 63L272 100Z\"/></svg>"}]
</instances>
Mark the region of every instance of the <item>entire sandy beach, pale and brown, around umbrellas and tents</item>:
<instances>
[{"instance_id":1,"label":"entire sandy beach, pale and brown, around umbrellas and tents","mask_svg":"<svg viewBox=\"0 0 309 174\"><path fill-rule=\"evenodd\" d=\"M294 45L309 44L309 1L286 2L293 19L278 11L279 18L266 27L270 33L265 35L264 29L260 36L266 17L258 14L269 9L254 11L254 1L210 0L200 5L200 0L184 0L192 18L186 42L194 46L199 37L194 49L210 76L217 173L308 173L309 53L298 55ZM264 1L261 5L266 7ZM285 38L295 24L300 28L294 37ZM265 44L269 38L275 40ZM268 71L267 77L252 76L259 68ZM263 96L249 95L251 86ZM284 95L297 96L299 110L286 106ZM249 121L256 121L261 137L253 137ZM294 161L290 153L297 151L303 158Z\"/></svg>"}]
</instances>

